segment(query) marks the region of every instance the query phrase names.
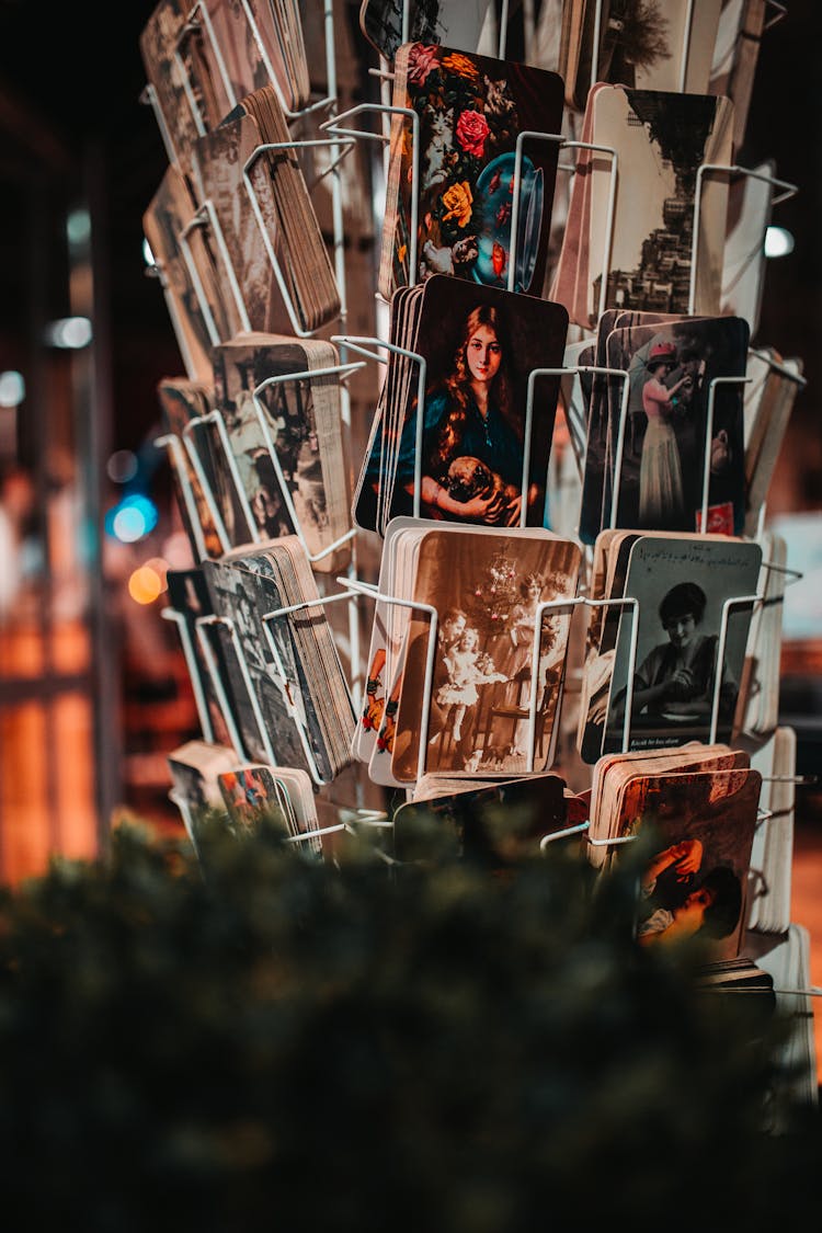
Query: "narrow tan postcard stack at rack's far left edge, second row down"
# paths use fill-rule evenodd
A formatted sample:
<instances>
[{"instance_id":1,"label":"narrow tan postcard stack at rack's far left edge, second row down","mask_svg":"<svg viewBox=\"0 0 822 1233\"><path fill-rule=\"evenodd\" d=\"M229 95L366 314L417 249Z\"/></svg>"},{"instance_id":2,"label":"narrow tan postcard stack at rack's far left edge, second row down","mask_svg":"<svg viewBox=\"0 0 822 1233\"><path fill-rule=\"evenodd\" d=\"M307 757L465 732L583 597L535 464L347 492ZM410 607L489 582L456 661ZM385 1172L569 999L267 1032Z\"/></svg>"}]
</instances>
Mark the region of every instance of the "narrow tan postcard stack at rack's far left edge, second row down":
<instances>
[{"instance_id":1,"label":"narrow tan postcard stack at rack's far left edge, second row down","mask_svg":"<svg viewBox=\"0 0 822 1233\"><path fill-rule=\"evenodd\" d=\"M192 381L211 381L210 351L240 328L210 238L197 221L189 180L174 164L143 215L143 232L163 287L182 364Z\"/></svg>"}]
</instances>

